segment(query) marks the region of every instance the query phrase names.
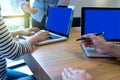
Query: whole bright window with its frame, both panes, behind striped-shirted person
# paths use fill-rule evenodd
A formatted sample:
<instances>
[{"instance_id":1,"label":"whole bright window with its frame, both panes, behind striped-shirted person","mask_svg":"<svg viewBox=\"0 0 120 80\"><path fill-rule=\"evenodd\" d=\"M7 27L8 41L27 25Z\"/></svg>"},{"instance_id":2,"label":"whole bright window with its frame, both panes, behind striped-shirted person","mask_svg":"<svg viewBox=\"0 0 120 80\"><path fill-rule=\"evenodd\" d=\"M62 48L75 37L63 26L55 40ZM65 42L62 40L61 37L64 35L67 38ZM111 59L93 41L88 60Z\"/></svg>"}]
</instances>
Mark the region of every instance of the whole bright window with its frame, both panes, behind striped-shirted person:
<instances>
[{"instance_id":1,"label":"whole bright window with its frame, both panes, behind striped-shirted person","mask_svg":"<svg viewBox=\"0 0 120 80\"><path fill-rule=\"evenodd\" d=\"M29 27L29 16L19 7L19 0L2 0L1 14L10 31Z\"/></svg>"}]
</instances>

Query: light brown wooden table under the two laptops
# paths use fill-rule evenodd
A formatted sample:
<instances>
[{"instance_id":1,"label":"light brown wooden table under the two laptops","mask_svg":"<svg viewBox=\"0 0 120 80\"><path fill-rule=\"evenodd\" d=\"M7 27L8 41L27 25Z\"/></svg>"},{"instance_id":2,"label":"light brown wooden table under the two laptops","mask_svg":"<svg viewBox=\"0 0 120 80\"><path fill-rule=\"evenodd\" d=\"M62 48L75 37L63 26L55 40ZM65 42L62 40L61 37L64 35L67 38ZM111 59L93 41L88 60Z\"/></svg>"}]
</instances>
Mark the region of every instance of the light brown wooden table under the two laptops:
<instances>
[{"instance_id":1,"label":"light brown wooden table under the two laptops","mask_svg":"<svg viewBox=\"0 0 120 80\"><path fill-rule=\"evenodd\" d=\"M80 27L72 28L67 41L36 46L25 61L37 80L62 80L64 68L86 69L94 80L120 80L120 60L116 58L88 58L80 42Z\"/></svg>"}]
</instances>

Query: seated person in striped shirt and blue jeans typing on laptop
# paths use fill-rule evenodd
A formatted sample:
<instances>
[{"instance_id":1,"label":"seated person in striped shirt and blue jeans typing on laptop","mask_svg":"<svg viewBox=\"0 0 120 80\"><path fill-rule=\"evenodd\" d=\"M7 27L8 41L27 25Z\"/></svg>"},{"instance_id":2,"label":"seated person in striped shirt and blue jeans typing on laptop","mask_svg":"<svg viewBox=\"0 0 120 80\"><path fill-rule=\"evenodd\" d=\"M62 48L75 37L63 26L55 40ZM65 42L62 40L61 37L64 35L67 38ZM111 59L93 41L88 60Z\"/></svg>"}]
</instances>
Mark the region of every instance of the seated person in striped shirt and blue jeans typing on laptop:
<instances>
[{"instance_id":1,"label":"seated person in striped shirt and blue jeans typing on laptop","mask_svg":"<svg viewBox=\"0 0 120 80\"><path fill-rule=\"evenodd\" d=\"M13 36L17 34L34 35L28 40L15 41ZM38 32L37 32L38 31ZM23 34L24 32L24 34ZM10 69L6 69L6 58L16 59L25 53L29 53L32 50L32 46L38 42L49 38L49 32L41 32L36 28L27 29L24 31L13 32L12 34L6 28L6 25L1 16L1 6L0 6L0 80L34 80L33 77L29 77L26 74L16 72ZM27 77L27 78L26 78Z\"/></svg>"}]
</instances>

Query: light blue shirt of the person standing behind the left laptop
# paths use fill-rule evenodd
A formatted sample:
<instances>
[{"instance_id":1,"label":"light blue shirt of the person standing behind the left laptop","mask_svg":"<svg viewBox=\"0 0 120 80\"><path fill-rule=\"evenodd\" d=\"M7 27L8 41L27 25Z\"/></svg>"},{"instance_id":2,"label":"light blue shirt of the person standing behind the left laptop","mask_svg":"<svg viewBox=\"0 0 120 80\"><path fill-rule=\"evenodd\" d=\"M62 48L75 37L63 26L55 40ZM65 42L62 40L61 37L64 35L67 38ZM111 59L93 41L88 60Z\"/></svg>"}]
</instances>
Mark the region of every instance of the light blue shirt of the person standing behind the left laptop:
<instances>
[{"instance_id":1,"label":"light blue shirt of the person standing behind the left laptop","mask_svg":"<svg viewBox=\"0 0 120 80\"><path fill-rule=\"evenodd\" d=\"M21 0L23 4L25 0ZM32 18L37 22L41 22L44 14L45 9L47 10L47 6L55 6L55 5L68 5L70 0L34 0L33 5L34 7L38 8L38 11L35 14L31 14ZM45 6L44 6L45 5Z\"/></svg>"}]
</instances>

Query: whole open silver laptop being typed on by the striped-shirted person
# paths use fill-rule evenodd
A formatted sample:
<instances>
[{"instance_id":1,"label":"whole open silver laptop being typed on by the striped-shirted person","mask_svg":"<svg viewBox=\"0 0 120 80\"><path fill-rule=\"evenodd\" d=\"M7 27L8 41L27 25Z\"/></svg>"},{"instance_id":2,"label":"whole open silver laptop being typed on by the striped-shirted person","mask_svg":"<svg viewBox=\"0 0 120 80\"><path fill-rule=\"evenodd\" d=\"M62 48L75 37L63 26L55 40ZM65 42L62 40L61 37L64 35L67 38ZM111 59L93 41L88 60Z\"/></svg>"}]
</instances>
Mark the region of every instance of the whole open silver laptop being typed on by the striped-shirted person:
<instances>
[{"instance_id":1,"label":"whole open silver laptop being typed on by the striped-shirted person","mask_svg":"<svg viewBox=\"0 0 120 80\"><path fill-rule=\"evenodd\" d=\"M46 21L46 30L50 32L51 38L38 42L36 45L43 45L69 38L72 26L74 6L49 7Z\"/></svg>"}]
</instances>

